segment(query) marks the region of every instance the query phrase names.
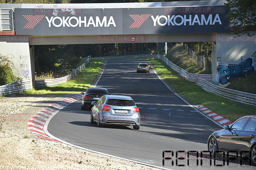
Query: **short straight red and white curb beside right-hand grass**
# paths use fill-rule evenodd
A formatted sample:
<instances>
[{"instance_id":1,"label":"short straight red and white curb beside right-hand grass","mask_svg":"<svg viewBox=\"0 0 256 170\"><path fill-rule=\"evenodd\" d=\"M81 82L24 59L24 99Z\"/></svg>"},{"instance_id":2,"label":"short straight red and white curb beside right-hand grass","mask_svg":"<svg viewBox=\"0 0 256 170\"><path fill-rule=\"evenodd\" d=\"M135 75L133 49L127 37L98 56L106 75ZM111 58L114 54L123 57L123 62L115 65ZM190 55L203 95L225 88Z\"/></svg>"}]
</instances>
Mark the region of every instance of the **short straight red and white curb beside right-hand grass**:
<instances>
[{"instance_id":1,"label":"short straight red and white curb beside right-hand grass","mask_svg":"<svg viewBox=\"0 0 256 170\"><path fill-rule=\"evenodd\" d=\"M208 117L212 118L215 122L217 122L221 125L230 125L233 123L230 120L214 113L212 110L209 110L208 108L206 108L204 106L197 106L196 109L200 110L202 113L204 113Z\"/></svg>"}]
</instances>

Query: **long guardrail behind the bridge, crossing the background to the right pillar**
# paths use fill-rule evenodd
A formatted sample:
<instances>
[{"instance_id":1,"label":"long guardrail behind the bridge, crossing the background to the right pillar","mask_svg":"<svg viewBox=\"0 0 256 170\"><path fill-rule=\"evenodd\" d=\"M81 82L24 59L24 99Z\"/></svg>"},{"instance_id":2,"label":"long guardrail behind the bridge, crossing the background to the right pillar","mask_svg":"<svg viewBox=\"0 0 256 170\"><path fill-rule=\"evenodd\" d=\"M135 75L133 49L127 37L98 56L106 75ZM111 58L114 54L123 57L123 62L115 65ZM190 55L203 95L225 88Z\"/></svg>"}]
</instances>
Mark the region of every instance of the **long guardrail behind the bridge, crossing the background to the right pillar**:
<instances>
[{"instance_id":1,"label":"long guardrail behind the bridge, crossing the background to the right pillar","mask_svg":"<svg viewBox=\"0 0 256 170\"><path fill-rule=\"evenodd\" d=\"M176 66L172 63L172 61L168 60L163 55L147 55L147 54L140 54L140 55L123 55L123 56L105 56L105 57L97 57L99 59L104 60L113 60L113 59L129 59L129 58L158 58L163 60L169 67L171 67L174 71L176 71L178 74L180 74L182 77L184 77L188 81L195 82L197 78L202 78L206 81L212 81L212 74L192 74L188 73L183 68L180 68L179 66Z\"/></svg>"}]
</instances>

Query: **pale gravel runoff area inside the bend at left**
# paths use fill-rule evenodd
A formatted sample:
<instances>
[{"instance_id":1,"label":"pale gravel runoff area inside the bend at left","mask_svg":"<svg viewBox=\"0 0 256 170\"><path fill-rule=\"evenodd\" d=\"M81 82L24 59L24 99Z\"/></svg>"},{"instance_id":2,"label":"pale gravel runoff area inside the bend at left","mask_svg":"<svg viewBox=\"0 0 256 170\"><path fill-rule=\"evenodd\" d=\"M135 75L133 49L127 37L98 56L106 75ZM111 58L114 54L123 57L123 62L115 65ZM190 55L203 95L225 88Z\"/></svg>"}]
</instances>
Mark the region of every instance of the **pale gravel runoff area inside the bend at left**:
<instances>
[{"instance_id":1,"label":"pale gravel runoff area inside the bend at left","mask_svg":"<svg viewBox=\"0 0 256 170\"><path fill-rule=\"evenodd\" d=\"M0 98L0 169L158 169L65 144L44 141L32 134L28 121L62 97L22 95Z\"/></svg>"}]
</instances>

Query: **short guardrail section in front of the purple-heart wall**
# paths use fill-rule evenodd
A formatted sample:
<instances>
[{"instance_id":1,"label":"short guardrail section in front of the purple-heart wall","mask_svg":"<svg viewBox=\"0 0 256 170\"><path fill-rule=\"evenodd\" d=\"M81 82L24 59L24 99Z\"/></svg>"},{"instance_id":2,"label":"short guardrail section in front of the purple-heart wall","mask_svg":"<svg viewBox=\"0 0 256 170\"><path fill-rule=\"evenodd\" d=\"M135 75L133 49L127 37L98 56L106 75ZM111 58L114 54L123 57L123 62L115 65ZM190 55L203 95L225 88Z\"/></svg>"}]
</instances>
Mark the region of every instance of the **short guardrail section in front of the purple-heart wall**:
<instances>
[{"instance_id":1,"label":"short guardrail section in front of the purple-heart wall","mask_svg":"<svg viewBox=\"0 0 256 170\"><path fill-rule=\"evenodd\" d=\"M20 79L3 86L0 86L0 95L11 95L20 93L32 88L32 80L30 78Z\"/></svg>"}]
</instances>

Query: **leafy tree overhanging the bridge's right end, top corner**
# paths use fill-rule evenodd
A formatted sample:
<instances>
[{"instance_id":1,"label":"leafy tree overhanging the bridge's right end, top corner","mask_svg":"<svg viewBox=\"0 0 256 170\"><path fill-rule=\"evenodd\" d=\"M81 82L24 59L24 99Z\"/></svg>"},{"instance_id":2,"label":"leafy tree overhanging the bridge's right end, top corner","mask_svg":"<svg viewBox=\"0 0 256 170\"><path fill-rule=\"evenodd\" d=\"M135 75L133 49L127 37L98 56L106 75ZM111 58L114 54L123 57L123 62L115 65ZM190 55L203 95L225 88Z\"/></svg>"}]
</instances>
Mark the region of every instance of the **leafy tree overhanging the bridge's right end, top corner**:
<instances>
[{"instance_id":1,"label":"leafy tree overhanging the bridge's right end, top corner","mask_svg":"<svg viewBox=\"0 0 256 170\"><path fill-rule=\"evenodd\" d=\"M228 19L232 28L230 34L252 36L251 30L255 30L256 24L256 1L255 0L227 0L229 9Z\"/></svg>"}]
</instances>

